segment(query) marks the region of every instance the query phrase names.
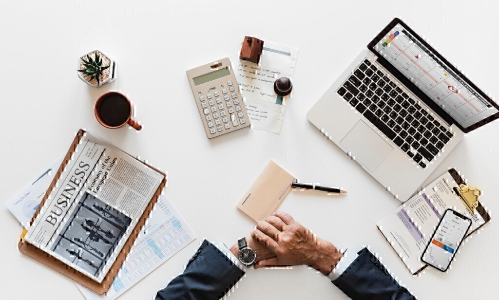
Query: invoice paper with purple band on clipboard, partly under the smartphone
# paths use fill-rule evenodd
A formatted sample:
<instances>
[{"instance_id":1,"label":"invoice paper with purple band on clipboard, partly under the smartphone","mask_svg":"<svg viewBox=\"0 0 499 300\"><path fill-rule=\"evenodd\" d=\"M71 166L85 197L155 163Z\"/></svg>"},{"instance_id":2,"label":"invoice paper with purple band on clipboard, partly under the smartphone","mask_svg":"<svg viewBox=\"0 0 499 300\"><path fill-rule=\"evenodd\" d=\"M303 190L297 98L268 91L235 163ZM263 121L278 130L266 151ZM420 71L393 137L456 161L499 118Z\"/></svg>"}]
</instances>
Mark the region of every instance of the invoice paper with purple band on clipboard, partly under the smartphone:
<instances>
[{"instance_id":1,"label":"invoice paper with purple band on clipboard, partly under the smartphone","mask_svg":"<svg viewBox=\"0 0 499 300\"><path fill-rule=\"evenodd\" d=\"M453 187L457 186L452 175L445 172L377 223L412 274L426 266L421 255L446 209L455 209L472 220L468 234L485 224L482 215L472 214L456 195Z\"/></svg>"}]
</instances>

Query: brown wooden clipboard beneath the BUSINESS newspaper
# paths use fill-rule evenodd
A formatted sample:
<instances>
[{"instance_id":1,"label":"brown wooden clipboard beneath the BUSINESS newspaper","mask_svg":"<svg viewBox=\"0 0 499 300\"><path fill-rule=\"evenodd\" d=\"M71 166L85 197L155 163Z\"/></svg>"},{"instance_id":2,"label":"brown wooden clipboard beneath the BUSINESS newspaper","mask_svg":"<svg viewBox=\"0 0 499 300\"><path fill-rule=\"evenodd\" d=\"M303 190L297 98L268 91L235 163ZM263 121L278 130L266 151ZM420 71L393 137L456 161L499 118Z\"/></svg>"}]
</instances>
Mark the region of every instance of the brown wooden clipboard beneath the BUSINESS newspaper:
<instances>
[{"instance_id":1,"label":"brown wooden clipboard beneath the BUSINESS newspaper","mask_svg":"<svg viewBox=\"0 0 499 300\"><path fill-rule=\"evenodd\" d=\"M40 212L41 208L45 204L45 201L47 200L48 196L50 195L53 188L55 187L55 183L57 182L58 178L62 174L64 167L66 166L67 162L71 159L71 155L76 150L76 147L78 146L81 138L83 138L85 133L86 133L86 131L80 129L78 131L78 133L76 134L76 137L74 138L73 143L71 144L71 147L69 148L69 150L66 153L66 156L62 160L62 164L59 166L59 169L57 170L56 176L54 177L54 179L50 183L50 187L47 189L45 196L41 200L40 205L38 206L38 209L36 209L36 212L34 213L33 218L31 219L31 222L29 223L29 225L31 225L33 223L36 216ZM133 157L133 156L131 156L131 157ZM139 159L137 159L137 160L139 160ZM130 237L128 238L125 245L123 246L123 249L121 250L120 254L118 254L111 269L109 269L109 272L104 277L104 280L102 281L102 283L99 284L98 282L92 280L91 278L87 277L83 273L76 271L75 269L69 267L65 263L50 256L46 252L36 248L35 246L33 246L27 242L24 242L22 239L19 240L19 243L17 244L19 251L22 254L25 254L25 255L37 260L38 262L40 262L40 263L54 269L55 271L71 278L72 280L80 283L81 285L89 288L90 290L92 290L100 295L106 293L111 288L111 284L113 283L114 278L118 274L118 271L120 270L128 253L130 252L130 249L132 248L132 246L135 242L135 239L139 235L139 233L142 229L142 226L144 226L146 220L149 218L149 215L151 214L151 211L153 210L154 205L158 201L160 194L166 185L167 178L166 178L166 174L164 172L161 172L160 170L154 168L153 166L151 166L151 165L149 165L141 160L139 160L139 161L144 163L148 167L152 168L153 170L159 172L160 174L162 174L164 176L164 178L161 181L158 189L156 190L156 193L154 193L154 196L151 198L149 205L146 207L146 209L144 210L144 213L140 217L139 222L137 223L137 225L135 225L134 230L132 231ZM23 234L21 235L21 237L24 235L24 232L25 231L23 231Z\"/></svg>"}]
</instances>

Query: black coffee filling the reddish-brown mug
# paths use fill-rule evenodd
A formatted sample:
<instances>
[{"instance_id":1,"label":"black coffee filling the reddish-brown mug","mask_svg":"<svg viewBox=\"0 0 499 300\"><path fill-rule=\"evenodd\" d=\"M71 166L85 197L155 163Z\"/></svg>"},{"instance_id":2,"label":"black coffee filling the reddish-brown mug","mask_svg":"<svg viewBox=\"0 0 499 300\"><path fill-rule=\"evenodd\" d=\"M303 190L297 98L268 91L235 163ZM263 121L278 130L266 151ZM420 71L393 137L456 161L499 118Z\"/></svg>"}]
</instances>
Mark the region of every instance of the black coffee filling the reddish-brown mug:
<instances>
[{"instance_id":1,"label":"black coffee filling the reddish-brown mug","mask_svg":"<svg viewBox=\"0 0 499 300\"><path fill-rule=\"evenodd\" d=\"M106 125L120 126L130 117L130 103L123 95L110 93L99 101L97 112Z\"/></svg>"}]
</instances>

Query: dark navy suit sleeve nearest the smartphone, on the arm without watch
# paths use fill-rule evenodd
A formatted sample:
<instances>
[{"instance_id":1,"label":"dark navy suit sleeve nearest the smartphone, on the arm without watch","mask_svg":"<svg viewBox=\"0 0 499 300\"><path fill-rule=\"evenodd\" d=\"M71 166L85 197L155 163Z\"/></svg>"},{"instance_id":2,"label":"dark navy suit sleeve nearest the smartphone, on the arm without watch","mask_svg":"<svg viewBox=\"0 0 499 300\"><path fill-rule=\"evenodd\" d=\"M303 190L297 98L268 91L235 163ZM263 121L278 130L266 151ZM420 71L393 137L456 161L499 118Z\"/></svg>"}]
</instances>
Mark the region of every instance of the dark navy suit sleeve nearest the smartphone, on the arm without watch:
<instances>
[{"instance_id":1,"label":"dark navy suit sleeve nearest the smartphone, on the arm without watch","mask_svg":"<svg viewBox=\"0 0 499 300\"><path fill-rule=\"evenodd\" d=\"M414 300L367 248L332 283L353 300Z\"/></svg>"}]
</instances>

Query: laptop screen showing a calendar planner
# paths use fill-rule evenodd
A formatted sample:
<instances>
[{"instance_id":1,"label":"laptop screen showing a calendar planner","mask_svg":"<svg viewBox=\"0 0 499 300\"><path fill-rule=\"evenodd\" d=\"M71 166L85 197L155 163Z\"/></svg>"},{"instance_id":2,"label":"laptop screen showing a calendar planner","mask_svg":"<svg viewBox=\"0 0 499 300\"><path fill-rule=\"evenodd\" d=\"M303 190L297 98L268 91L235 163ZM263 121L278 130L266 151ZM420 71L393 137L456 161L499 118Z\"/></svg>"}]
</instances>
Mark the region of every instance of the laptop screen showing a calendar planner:
<instances>
[{"instance_id":1,"label":"laptop screen showing a calendar planner","mask_svg":"<svg viewBox=\"0 0 499 300\"><path fill-rule=\"evenodd\" d=\"M482 96L464 76L455 72L455 68L440 59L440 55L425 46L426 43L403 24L397 22L384 32L382 37L377 37L374 51L413 82L462 128L469 128L499 112L497 105Z\"/></svg>"}]
</instances>

